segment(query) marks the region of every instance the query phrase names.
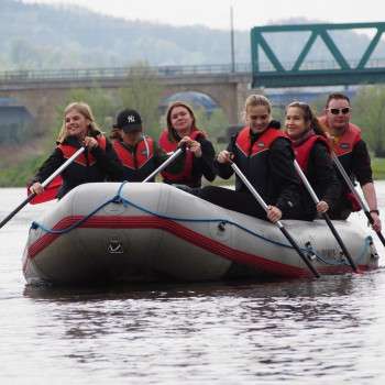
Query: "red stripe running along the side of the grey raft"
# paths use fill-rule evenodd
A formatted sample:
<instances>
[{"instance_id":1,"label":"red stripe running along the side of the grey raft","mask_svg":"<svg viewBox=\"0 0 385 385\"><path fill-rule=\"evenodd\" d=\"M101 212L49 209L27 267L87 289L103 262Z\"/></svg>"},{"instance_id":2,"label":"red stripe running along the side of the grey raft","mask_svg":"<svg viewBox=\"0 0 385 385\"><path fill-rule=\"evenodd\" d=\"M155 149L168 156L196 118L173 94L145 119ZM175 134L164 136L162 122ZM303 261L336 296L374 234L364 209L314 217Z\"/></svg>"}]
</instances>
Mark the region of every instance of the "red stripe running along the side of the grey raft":
<instances>
[{"instance_id":1,"label":"red stripe running along the side of the grey raft","mask_svg":"<svg viewBox=\"0 0 385 385\"><path fill-rule=\"evenodd\" d=\"M64 230L74 223L81 220L84 217L72 216L62 219L55 224L53 230ZM300 268L296 266L286 265L276 261L270 261L265 257L245 253L232 248L227 246L218 241L212 240L209 237L202 235L191 229L182 226L178 222L172 221L169 219L163 219L158 217L141 216L141 217L120 217L120 216L95 216L78 228L80 229L160 229L168 231L169 233L184 239L185 241L197 245L198 248L205 249L213 254L220 255L230 261L248 264L258 270L263 270L267 273L273 273L275 275L286 276L286 277L304 277L310 276L310 272L307 268ZM51 234L45 233L36 242L28 249L28 257L34 258L40 252L46 249L51 243L53 243L56 238L62 234ZM361 267L361 266L360 266ZM365 266L363 266L365 267ZM351 271L350 266L324 266L318 268L320 273L344 273Z\"/></svg>"}]
</instances>

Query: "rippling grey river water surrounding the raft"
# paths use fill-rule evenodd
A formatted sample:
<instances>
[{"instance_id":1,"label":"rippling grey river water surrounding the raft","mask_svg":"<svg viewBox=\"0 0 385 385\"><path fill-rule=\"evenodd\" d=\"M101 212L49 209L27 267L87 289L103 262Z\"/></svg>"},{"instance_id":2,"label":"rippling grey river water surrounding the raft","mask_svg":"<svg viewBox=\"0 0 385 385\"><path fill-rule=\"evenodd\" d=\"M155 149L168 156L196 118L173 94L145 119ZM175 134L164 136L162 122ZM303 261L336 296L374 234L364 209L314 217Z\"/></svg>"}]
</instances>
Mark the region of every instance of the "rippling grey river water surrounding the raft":
<instances>
[{"instance_id":1,"label":"rippling grey river water surrounding the raft","mask_svg":"<svg viewBox=\"0 0 385 385\"><path fill-rule=\"evenodd\" d=\"M385 183L376 186L384 212ZM24 193L0 190L0 218ZM263 284L30 287L21 255L50 205L0 230L1 384L385 383L384 268Z\"/></svg>"}]
</instances>

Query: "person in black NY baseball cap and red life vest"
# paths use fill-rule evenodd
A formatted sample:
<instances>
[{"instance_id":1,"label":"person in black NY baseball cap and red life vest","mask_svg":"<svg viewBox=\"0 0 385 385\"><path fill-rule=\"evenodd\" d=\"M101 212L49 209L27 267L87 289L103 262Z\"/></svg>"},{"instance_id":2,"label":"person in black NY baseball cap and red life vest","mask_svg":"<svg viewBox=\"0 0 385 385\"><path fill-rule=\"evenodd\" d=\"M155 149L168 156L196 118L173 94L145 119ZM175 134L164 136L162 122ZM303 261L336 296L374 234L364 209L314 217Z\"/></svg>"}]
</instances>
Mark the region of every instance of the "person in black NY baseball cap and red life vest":
<instances>
[{"instance_id":1,"label":"person in black NY baseball cap and red life vest","mask_svg":"<svg viewBox=\"0 0 385 385\"><path fill-rule=\"evenodd\" d=\"M156 142L143 133L142 118L135 110L118 113L110 138L123 165L124 180L142 182L167 160L167 154Z\"/></svg>"}]
</instances>

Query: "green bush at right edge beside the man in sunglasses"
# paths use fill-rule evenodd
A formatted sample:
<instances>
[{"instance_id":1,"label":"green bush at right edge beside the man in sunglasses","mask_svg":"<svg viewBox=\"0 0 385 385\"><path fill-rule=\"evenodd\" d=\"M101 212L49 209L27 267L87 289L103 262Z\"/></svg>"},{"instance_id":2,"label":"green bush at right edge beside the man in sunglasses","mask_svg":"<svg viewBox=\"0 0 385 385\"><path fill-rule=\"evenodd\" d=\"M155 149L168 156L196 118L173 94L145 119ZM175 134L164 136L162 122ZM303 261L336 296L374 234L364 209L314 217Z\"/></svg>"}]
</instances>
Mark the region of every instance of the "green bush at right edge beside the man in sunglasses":
<instances>
[{"instance_id":1,"label":"green bush at right edge beside the man in sunglasses","mask_svg":"<svg viewBox=\"0 0 385 385\"><path fill-rule=\"evenodd\" d=\"M353 121L375 156L385 157L385 86L360 88L352 102Z\"/></svg>"}]
</instances>

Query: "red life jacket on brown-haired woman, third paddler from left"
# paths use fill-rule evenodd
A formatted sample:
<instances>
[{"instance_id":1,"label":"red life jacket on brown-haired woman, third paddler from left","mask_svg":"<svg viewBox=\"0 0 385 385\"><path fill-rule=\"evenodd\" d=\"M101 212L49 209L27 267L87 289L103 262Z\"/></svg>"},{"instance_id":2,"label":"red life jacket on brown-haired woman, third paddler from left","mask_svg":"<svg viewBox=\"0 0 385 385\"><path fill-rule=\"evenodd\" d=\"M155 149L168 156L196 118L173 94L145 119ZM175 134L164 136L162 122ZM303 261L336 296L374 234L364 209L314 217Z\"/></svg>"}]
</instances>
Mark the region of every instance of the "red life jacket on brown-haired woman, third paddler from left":
<instances>
[{"instance_id":1,"label":"red life jacket on brown-haired woman, third paddler from left","mask_svg":"<svg viewBox=\"0 0 385 385\"><path fill-rule=\"evenodd\" d=\"M189 134L193 141L196 141L199 136L205 136L205 134L198 130L195 129ZM178 142L174 142L169 140L169 133L168 130L165 129L160 138L160 146L166 152L170 153L178 148ZM170 173L163 170L161 174L164 177L164 179L169 180L172 183L189 183L193 180L191 173L193 173L193 161L194 161L194 154L190 151L186 151L184 156L184 167L182 172L179 173Z\"/></svg>"}]
</instances>

